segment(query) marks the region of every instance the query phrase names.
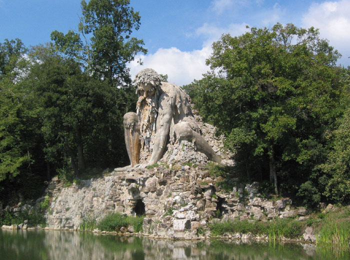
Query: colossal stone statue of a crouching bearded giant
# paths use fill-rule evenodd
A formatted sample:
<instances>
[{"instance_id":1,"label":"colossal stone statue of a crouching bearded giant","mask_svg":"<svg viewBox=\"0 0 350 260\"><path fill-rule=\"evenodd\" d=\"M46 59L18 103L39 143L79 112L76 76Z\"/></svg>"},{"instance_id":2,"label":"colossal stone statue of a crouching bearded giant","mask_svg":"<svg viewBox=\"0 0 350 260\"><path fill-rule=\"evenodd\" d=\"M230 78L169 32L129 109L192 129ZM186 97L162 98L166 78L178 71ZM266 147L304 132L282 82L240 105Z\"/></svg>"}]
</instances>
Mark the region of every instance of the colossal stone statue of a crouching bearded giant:
<instances>
[{"instance_id":1,"label":"colossal stone statue of a crouching bearded giant","mask_svg":"<svg viewBox=\"0 0 350 260\"><path fill-rule=\"evenodd\" d=\"M168 140L189 140L211 161L222 159L199 134L186 93L175 84L162 82L153 69L137 73L136 113L124 115L124 135L131 167L158 162Z\"/></svg>"}]
</instances>

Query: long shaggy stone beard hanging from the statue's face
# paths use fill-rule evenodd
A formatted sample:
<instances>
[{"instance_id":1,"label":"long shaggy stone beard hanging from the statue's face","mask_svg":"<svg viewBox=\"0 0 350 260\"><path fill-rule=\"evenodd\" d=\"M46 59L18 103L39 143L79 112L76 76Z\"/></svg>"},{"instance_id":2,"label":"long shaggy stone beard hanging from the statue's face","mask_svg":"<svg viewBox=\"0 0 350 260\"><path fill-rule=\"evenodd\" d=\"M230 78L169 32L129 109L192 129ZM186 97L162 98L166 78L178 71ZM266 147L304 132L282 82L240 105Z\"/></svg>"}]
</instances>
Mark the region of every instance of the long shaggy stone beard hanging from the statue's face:
<instances>
[{"instance_id":1,"label":"long shaggy stone beard hanging from the statue's face","mask_svg":"<svg viewBox=\"0 0 350 260\"><path fill-rule=\"evenodd\" d=\"M141 153L152 152L157 118L157 98L155 95L144 98L140 96L136 105L140 126Z\"/></svg>"}]
</instances>

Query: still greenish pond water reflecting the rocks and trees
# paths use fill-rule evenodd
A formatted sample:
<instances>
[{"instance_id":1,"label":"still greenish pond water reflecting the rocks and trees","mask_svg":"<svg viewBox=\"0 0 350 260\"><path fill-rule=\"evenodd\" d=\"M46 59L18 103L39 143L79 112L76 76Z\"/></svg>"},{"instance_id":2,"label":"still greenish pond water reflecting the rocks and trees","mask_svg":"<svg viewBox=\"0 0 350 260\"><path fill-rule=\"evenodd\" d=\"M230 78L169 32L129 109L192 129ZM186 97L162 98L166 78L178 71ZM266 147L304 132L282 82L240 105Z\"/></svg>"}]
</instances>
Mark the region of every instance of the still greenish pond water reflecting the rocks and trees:
<instances>
[{"instance_id":1,"label":"still greenish pond water reflecting the rocks and trees","mask_svg":"<svg viewBox=\"0 0 350 260\"><path fill-rule=\"evenodd\" d=\"M0 230L0 260L348 260L298 244L165 241L64 231Z\"/></svg>"}]
</instances>

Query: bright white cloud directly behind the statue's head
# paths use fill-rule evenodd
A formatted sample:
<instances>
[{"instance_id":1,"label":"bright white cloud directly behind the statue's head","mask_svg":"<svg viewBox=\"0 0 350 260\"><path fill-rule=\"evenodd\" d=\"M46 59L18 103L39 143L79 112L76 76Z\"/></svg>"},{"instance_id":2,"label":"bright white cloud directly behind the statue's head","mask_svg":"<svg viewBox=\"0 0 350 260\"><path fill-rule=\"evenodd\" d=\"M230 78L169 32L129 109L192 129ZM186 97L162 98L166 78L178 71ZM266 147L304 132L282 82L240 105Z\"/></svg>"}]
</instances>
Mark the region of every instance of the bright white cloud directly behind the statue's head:
<instances>
[{"instance_id":1,"label":"bright white cloud directly behind the statue's head","mask_svg":"<svg viewBox=\"0 0 350 260\"><path fill-rule=\"evenodd\" d=\"M194 36L204 36L202 48L192 51L181 51L178 48L159 48L153 54L137 55L135 60L130 62L131 78L144 68L152 68L159 74L167 74L168 81L177 85L191 83L194 79L201 79L202 74L209 70L205 60L210 56L213 41L218 40L222 33L230 33L232 36L242 34L247 30L245 23L230 24L227 28L219 28L212 24L204 23L198 28ZM143 65L137 63L141 59Z\"/></svg>"}]
</instances>

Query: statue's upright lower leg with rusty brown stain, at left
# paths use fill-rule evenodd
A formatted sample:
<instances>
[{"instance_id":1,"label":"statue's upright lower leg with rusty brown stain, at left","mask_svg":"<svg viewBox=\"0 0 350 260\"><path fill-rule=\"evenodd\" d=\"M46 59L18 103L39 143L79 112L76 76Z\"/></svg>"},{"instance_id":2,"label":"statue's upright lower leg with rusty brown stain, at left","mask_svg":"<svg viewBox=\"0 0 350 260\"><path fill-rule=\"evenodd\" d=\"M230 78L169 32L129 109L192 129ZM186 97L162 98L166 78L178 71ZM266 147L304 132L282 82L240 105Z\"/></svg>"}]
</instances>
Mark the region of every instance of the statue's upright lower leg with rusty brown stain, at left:
<instances>
[{"instance_id":1,"label":"statue's upright lower leg with rusty brown stain, at left","mask_svg":"<svg viewBox=\"0 0 350 260\"><path fill-rule=\"evenodd\" d=\"M126 113L124 115L123 123L127 154L129 156L131 166L134 166L139 163L139 155L141 148L137 114L133 112Z\"/></svg>"}]
</instances>

